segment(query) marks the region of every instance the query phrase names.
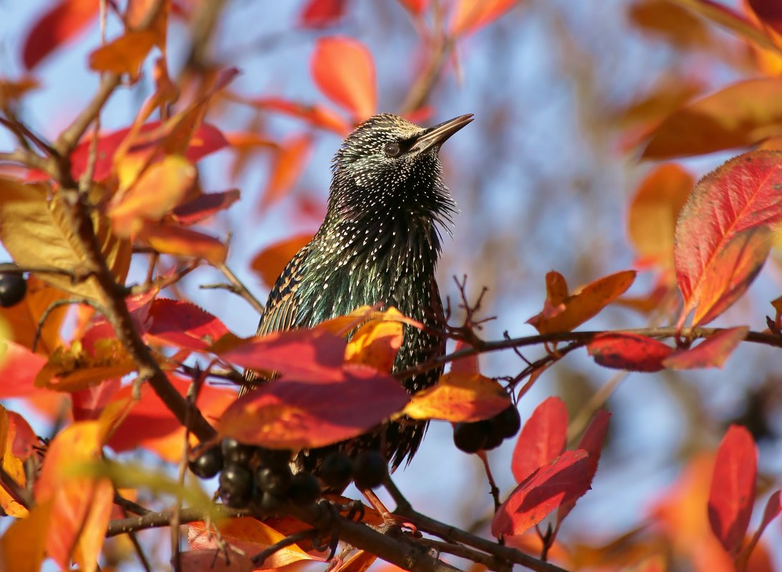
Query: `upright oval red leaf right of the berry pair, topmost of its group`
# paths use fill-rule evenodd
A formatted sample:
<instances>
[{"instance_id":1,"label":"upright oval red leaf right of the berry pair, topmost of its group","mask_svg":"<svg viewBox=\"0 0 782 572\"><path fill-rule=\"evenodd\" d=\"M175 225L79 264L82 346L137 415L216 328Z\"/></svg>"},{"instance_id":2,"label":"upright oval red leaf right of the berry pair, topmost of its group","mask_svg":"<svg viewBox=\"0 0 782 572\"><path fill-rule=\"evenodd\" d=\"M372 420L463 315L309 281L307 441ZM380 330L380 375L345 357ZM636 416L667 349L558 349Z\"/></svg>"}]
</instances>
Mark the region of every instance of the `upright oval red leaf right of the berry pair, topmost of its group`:
<instances>
[{"instance_id":1,"label":"upright oval red leaf right of the berry pair, topmost of its group","mask_svg":"<svg viewBox=\"0 0 782 572\"><path fill-rule=\"evenodd\" d=\"M536 407L518 435L511 470L517 483L562 454L568 433L568 409L558 397Z\"/></svg>"}]
</instances>

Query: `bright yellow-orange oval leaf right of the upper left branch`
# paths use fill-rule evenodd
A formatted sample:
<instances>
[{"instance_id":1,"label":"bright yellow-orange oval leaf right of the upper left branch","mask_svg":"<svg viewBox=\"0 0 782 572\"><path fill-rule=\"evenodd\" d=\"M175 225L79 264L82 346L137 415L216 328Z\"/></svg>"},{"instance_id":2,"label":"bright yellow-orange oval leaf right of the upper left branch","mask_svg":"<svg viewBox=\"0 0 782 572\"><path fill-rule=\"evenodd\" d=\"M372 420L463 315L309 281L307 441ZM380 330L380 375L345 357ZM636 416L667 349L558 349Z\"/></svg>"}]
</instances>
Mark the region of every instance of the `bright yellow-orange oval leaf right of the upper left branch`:
<instances>
[{"instance_id":1,"label":"bright yellow-orange oval leaf right of the upper left branch","mask_svg":"<svg viewBox=\"0 0 782 572\"><path fill-rule=\"evenodd\" d=\"M162 219L182 202L195 176L195 167L182 156L169 155L153 163L109 205L114 232L127 238L137 233L145 220Z\"/></svg>"}]
</instances>

